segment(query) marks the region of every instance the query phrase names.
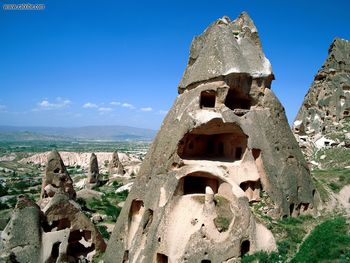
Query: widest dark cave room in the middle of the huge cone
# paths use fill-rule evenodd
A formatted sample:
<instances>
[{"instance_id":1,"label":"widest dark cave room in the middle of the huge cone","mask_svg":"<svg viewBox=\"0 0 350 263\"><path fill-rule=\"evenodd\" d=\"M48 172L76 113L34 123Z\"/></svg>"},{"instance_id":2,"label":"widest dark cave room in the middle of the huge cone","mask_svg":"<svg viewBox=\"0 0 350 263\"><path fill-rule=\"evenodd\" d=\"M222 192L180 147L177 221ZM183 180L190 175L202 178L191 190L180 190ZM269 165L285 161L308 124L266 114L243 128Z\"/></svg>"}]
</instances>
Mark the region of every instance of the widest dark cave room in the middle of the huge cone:
<instances>
[{"instance_id":1,"label":"widest dark cave room in the middle of the huge cone","mask_svg":"<svg viewBox=\"0 0 350 263\"><path fill-rule=\"evenodd\" d=\"M233 162L242 159L247 139L237 125L214 119L185 134L177 153L182 159Z\"/></svg>"}]
</instances>

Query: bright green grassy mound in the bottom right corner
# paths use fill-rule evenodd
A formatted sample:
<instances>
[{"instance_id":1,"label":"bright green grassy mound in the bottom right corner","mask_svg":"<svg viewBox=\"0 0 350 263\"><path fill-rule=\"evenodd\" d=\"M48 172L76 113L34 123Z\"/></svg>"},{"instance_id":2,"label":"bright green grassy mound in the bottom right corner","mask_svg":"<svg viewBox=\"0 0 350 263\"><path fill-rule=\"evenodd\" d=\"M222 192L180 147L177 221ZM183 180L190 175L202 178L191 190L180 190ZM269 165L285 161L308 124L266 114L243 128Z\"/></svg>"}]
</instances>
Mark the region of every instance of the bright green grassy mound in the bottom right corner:
<instances>
[{"instance_id":1,"label":"bright green grassy mound in the bottom right corner","mask_svg":"<svg viewBox=\"0 0 350 263\"><path fill-rule=\"evenodd\" d=\"M296 262L349 262L350 235L345 218L329 219L311 232L292 259Z\"/></svg>"}]
</instances>

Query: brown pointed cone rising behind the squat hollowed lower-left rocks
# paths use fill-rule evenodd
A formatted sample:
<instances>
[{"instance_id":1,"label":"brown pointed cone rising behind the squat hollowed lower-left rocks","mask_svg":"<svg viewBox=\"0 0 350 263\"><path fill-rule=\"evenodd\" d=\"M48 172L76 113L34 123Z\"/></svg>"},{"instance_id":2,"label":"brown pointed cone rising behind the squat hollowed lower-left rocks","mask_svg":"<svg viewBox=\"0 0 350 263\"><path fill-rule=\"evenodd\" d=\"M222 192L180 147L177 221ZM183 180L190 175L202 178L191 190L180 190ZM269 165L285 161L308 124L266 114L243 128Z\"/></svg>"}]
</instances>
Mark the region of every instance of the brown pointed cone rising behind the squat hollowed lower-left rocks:
<instances>
[{"instance_id":1,"label":"brown pointed cone rising behind the squat hollowed lower-left rocks","mask_svg":"<svg viewBox=\"0 0 350 263\"><path fill-rule=\"evenodd\" d=\"M52 151L47 157L41 198L52 197L58 192L66 193L70 198L75 198L76 196L73 181L63 164L60 154L57 151Z\"/></svg>"}]
</instances>

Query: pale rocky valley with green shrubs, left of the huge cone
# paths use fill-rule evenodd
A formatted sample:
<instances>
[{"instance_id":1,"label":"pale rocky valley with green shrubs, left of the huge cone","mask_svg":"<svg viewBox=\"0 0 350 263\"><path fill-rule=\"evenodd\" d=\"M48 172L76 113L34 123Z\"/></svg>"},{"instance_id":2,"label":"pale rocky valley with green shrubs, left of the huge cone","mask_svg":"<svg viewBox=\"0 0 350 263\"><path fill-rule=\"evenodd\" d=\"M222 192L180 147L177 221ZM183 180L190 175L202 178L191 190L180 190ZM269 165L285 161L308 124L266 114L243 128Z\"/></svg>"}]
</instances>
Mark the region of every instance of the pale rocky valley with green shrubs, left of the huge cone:
<instances>
[{"instance_id":1,"label":"pale rocky valley with green shrubs, left of the huge cone","mask_svg":"<svg viewBox=\"0 0 350 263\"><path fill-rule=\"evenodd\" d=\"M8 149L6 152L2 150L4 153L0 157L0 231L8 223L19 195L26 194L34 201L39 200L49 154L47 151L31 153L23 150L8 153ZM74 182L77 202L105 239L109 238L113 230L146 151L147 144L141 149L131 147L119 152L119 159L125 171L123 176L109 174L108 166L112 159L112 151L96 152L103 184L90 191L84 189L84 183L91 152L60 152Z\"/></svg>"}]
</instances>

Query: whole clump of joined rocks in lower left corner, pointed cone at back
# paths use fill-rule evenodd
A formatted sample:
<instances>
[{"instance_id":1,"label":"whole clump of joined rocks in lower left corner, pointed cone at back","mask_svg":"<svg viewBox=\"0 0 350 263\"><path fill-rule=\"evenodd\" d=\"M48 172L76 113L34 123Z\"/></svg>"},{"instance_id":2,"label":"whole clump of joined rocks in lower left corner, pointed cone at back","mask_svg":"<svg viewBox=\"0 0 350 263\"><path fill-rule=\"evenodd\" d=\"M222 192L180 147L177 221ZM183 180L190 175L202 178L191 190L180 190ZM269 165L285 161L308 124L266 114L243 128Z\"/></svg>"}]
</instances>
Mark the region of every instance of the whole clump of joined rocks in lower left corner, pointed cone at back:
<instances>
[{"instance_id":1,"label":"whole clump of joined rocks in lower left corner, pointed cone at back","mask_svg":"<svg viewBox=\"0 0 350 263\"><path fill-rule=\"evenodd\" d=\"M1 235L0 259L8 262L91 262L103 253L105 241L74 201L75 196L72 179L59 153L53 151L47 160L40 207L25 196L18 199Z\"/></svg>"}]
</instances>

